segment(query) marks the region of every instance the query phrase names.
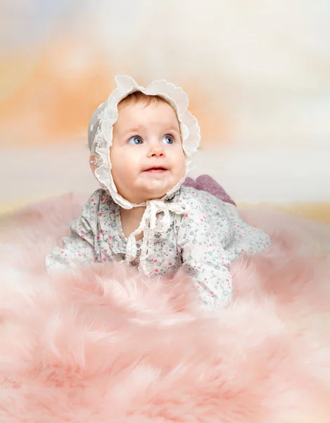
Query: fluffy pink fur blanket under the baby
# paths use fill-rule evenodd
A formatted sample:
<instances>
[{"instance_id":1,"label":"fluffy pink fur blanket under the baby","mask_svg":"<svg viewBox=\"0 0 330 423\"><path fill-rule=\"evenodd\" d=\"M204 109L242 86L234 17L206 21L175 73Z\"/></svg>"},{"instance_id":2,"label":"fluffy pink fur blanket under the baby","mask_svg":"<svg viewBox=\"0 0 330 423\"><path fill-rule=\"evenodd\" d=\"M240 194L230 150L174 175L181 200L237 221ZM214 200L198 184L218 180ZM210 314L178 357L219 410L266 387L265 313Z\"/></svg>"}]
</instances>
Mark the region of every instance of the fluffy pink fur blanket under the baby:
<instances>
[{"instance_id":1,"label":"fluffy pink fur blanket under the baby","mask_svg":"<svg viewBox=\"0 0 330 423\"><path fill-rule=\"evenodd\" d=\"M1 423L329 423L329 227L242 210L274 246L234 264L234 302L203 314L180 274L46 275L80 207L0 221Z\"/></svg>"}]
</instances>

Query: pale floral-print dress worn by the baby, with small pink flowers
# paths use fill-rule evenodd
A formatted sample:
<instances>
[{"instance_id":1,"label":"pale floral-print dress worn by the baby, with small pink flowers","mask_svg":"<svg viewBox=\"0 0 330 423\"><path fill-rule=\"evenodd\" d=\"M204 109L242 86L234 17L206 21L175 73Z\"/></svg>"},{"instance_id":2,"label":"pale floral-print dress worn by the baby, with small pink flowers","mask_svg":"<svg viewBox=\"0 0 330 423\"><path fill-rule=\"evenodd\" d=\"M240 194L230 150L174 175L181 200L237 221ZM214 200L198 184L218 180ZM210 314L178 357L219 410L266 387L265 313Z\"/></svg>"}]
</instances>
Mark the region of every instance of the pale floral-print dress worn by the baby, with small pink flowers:
<instances>
[{"instance_id":1,"label":"pale floral-print dress worn by the baby, with small pink flowers","mask_svg":"<svg viewBox=\"0 0 330 423\"><path fill-rule=\"evenodd\" d=\"M243 254L267 250L269 236L240 219L236 207L208 192L182 186L168 201L178 202L186 213L171 214L170 228L155 234L153 250L146 259L148 274L173 273L184 266L205 305L223 307L231 299L231 262ZM105 190L94 192L70 229L63 247L56 247L46 257L48 271L125 260L127 238L122 232L120 207ZM137 242L137 250L132 266L139 266L141 242Z\"/></svg>"}]
</instances>

